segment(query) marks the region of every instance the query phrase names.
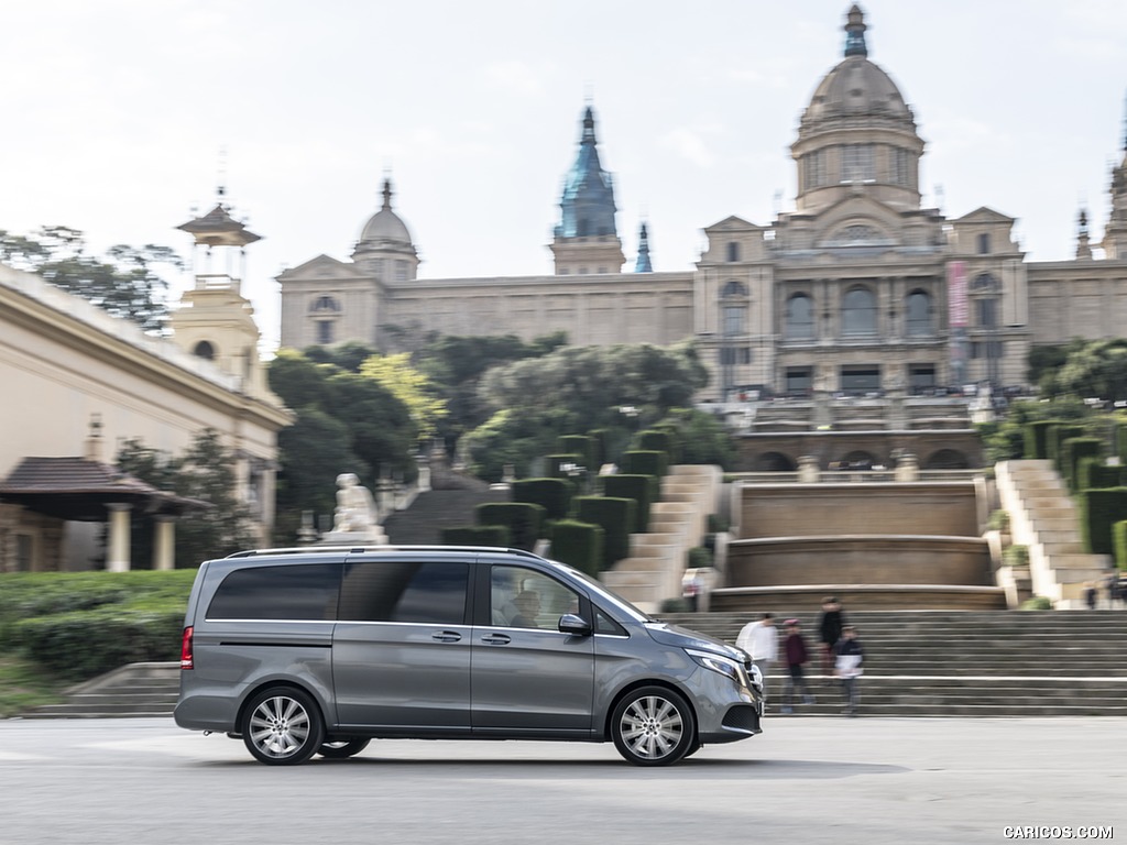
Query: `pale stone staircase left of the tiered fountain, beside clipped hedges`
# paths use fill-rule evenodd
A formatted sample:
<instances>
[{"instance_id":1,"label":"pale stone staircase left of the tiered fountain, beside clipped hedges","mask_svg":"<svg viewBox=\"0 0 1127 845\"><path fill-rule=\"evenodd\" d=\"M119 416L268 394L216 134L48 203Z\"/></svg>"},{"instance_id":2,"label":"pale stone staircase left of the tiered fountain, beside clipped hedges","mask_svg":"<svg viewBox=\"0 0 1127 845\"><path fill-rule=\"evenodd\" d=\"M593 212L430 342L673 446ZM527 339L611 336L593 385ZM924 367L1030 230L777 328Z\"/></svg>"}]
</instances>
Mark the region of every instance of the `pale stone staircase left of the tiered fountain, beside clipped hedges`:
<instances>
[{"instance_id":1,"label":"pale stone staircase left of the tiered fountain, beside clipped hedges","mask_svg":"<svg viewBox=\"0 0 1127 845\"><path fill-rule=\"evenodd\" d=\"M650 506L649 532L630 535L630 555L600 579L623 598L656 612L681 595L690 549L708 533L720 490L719 466L678 464L662 479L662 498Z\"/></svg>"}]
</instances>

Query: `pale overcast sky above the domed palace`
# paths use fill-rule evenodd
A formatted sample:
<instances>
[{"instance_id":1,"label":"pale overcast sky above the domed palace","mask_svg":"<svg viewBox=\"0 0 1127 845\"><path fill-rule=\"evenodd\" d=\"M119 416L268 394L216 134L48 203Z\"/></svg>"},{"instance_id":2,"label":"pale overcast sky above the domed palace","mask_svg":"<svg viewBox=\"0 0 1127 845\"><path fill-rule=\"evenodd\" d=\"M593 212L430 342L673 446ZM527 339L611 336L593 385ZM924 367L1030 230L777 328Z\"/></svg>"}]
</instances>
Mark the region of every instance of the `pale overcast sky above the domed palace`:
<instances>
[{"instance_id":1,"label":"pale overcast sky above the domed palace","mask_svg":"<svg viewBox=\"0 0 1127 845\"><path fill-rule=\"evenodd\" d=\"M284 267L348 259L393 201L420 276L539 275L589 97L632 267L691 269L701 230L793 207L789 146L842 59L843 0L0 0L0 229L160 243L215 201L264 240L245 293L267 346ZM1033 260L1093 241L1122 158L1127 2L869 0L869 59L926 142L924 204L1019 219ZM225 154L221 151L225 150ZM222 161L222 163L221 163ZM940 187L941 186L941 187ZM178 290L187 278L176 279Z\"/></svg>"}]
</instances>

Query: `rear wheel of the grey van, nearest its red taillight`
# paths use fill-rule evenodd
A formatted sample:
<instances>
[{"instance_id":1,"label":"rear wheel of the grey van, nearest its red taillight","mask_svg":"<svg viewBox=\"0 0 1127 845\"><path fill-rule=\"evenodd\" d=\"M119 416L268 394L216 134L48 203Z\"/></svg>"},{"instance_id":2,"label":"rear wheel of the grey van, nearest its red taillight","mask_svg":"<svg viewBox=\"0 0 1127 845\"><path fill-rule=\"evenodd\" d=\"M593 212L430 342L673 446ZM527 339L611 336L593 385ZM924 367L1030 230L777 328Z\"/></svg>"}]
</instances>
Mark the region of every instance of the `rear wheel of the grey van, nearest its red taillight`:
<instances>
[{"instance_id":1,"label":"rear wheel of the grey van, nearest its red taillight","mask_svg":"<svg viewBox=\"0 0 1127 845\"><path fill-rule=\"evenodd\" d=\"M247 704L242 741L259 763L295 766L323 745L325 720L308 693L291 686L270 687Z\"/></svg>"}]
</instances>

